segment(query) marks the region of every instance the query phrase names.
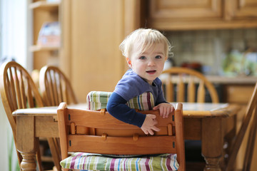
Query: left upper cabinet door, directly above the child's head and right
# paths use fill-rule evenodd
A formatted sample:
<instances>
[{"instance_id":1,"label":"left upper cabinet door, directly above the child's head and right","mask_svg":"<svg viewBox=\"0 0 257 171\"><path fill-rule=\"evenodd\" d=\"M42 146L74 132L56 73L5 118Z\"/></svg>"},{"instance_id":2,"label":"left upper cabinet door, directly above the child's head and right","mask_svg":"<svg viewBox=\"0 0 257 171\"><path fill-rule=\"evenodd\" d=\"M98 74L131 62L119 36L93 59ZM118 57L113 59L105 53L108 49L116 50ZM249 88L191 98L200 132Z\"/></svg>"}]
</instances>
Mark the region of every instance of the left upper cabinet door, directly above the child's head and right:
<instances>
[{"instance_id":1,"label":"left upper cabinet door, directly above the child's head and right","mask_svg":"<svg viewBox=\"0 0 257 171\"><path fill-rule=\"evenodd\" d=\"M151 19L217 19L222 16L221 0L151 0Z\"/></svg>"}]
</instances>

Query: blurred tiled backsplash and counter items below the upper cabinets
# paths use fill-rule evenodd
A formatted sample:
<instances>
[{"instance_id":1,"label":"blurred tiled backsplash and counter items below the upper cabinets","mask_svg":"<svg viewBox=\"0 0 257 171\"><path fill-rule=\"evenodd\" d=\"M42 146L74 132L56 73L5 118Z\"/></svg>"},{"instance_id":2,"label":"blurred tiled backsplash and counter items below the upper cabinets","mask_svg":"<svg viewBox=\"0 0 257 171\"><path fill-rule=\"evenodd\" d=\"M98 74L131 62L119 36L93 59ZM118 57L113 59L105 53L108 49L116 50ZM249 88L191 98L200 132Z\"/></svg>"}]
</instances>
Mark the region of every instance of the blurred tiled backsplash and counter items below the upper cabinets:
<instances>
[{"instance_id":1,"label":"blurred tiled backsplash and counter items below the upper cabinets","mask_svg":"<svg viewBox=\"0 0 257 171\"><path fill-rule=\"evenodd\" d=\"M173 65L195 67L201 65L201 71L206 75L236 76L240 73L243 53L251 50L253 63L257 63L257 29L224 29L200 31L168 31L165 32L173 46ZM226 59L229 55L235 60L228 61L233 68L226 68ZM248 53L248 60L250 58ZM242 66L246 68L247 64ZM193 67L193 66L192 66ZM226 71L227 69L227 71ZM228 71L231 69L231 71ZM251 68L256 69L256 68ZM246 75L256 75L256 71L242 71Z\"/></svg>"}]
</instances>

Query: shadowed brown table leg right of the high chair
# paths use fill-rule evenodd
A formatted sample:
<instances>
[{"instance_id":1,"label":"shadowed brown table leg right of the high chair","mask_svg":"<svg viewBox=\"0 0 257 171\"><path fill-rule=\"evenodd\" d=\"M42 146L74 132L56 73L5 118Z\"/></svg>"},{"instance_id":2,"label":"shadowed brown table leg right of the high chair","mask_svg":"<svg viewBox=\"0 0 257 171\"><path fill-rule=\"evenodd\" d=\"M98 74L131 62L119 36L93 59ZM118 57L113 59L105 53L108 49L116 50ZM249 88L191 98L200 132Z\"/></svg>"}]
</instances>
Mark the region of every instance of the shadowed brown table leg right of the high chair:
<instances>
[{"instance_id":1,"label":"shadowed brown table leg right of the high chair","mask_svg":"<svg viewBox=\"0 0 257 171\"><path fill-rule=\"evenodd\" d=\"M219 161L223 153L222 118L203 118L202 155L206 160L204 170L220 171Z\"/></svg>"}]
</instances>

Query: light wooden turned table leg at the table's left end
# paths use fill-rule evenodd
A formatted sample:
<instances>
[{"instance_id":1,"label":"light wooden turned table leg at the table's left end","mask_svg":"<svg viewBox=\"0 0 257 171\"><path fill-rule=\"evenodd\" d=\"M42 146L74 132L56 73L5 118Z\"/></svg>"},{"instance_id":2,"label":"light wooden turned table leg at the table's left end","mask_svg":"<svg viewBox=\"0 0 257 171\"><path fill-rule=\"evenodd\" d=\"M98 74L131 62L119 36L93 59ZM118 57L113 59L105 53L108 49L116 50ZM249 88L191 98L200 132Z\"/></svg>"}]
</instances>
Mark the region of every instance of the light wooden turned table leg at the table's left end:
<instances>
[{"instance_id":1,"label":"light wooden turned table leg at the table's left end","mask_svg":"<svg viewBox=\"0 0 257 171\"><path fill-rule=\"evenodd\" d=\"M17 150L21 152L21 170L36 170L34 116L17 116Z\"/></svg>"}]
</instances>

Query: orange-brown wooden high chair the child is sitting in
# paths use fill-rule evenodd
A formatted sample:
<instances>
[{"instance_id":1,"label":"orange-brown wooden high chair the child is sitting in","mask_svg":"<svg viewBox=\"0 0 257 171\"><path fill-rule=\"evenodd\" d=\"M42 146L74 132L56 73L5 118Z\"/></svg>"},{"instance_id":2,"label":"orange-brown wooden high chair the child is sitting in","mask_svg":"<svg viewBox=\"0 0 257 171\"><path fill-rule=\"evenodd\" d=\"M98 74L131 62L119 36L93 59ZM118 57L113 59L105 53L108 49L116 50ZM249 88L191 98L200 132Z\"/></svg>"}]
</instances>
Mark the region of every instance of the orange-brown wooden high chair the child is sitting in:
<instances>
[{"instance_id":1,"label":"orange-brown wooden high chair the child is sitting in","mask_svg":"<svg viewBox=\"0 0 257 171\"><path fill-rule=\"evenodd\" d=\"M143 166L145 165L144 162L143 165L140 164L140 161L151 160L159 164L161 161L170 162L177 155L178 170L185 170L182 104L178 103L176 110L166 119L161 118L158 110L140 112L156 115L157 127L161 130L154 135L145 135L140 128L117 120L105 109L97 111L81 110L68 108L66 103L61 103L57 110L63 160L61 165L66 166L66 170L74 168L78 170L95 170L96 168L97 170L104 170L103 165L107 164L101 164L102 160L109 160L109 162L107 161L107 163L110 163L108 168L125 167L124 165L133 160L137 162L131 162L133 166L129 165L129 167L138 167L138 170L141 170L141 167L146 166ZM69 157L69 152L76 153ZM106 156L103 155L87 155L81 152L104 154L107 155L107 160ZM158 157L158 154L162 153L176 155ZM111 157L113 155L115 156ZM157 156L143 158L143 156L138 155ZM87 161L97 161L97 163L92 164L94 165L92 166ZM165 164L166 162L164 162L164 166L170 167L170 165ZM176 161L173 164L176 164ZM148 166L151 167L151 163ZM151 169L156 170L154 166ZM165 169L159 168L158 170Z\"/></svg>"}]
</instances>

